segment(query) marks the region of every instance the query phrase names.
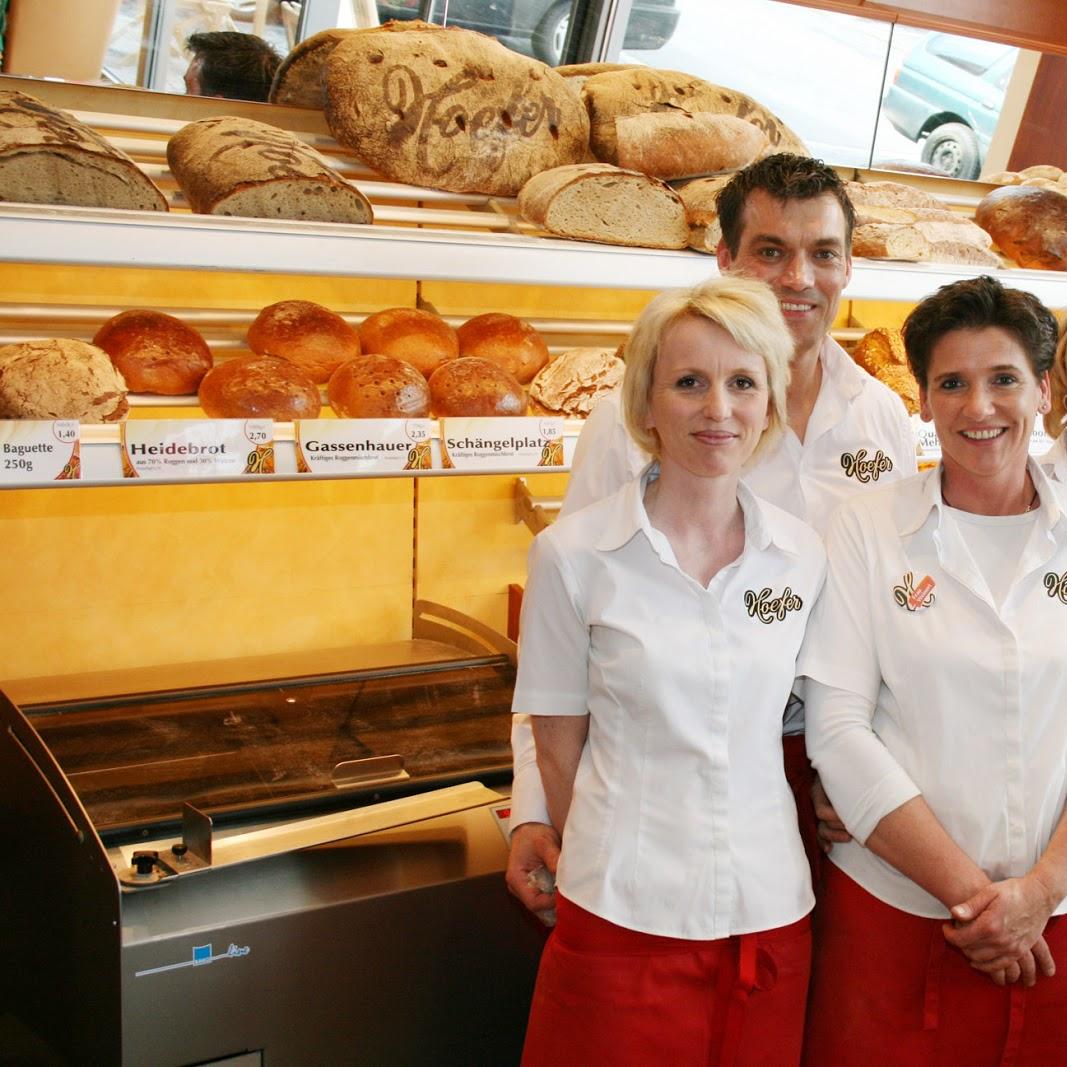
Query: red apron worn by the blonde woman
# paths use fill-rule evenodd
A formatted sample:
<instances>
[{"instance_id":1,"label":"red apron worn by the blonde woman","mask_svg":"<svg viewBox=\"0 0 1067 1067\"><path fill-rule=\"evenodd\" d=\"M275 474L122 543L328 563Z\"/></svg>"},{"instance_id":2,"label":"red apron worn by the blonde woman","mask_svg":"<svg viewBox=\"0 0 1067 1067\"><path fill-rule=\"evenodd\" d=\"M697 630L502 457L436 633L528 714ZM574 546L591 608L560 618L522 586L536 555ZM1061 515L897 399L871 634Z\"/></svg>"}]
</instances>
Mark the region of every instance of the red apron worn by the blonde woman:
<instances>
[{"instance_id":1,"label":"red apron worn by the blonde woman","mask_svg":"<svg viewBox=\"0 0 1067 1067\"><path fill-rule=\"evenodd\" d=\"M714 941L624 929L557 896L523 1067L796 1067L808 917Z\"/></svg>"}]
</instances>

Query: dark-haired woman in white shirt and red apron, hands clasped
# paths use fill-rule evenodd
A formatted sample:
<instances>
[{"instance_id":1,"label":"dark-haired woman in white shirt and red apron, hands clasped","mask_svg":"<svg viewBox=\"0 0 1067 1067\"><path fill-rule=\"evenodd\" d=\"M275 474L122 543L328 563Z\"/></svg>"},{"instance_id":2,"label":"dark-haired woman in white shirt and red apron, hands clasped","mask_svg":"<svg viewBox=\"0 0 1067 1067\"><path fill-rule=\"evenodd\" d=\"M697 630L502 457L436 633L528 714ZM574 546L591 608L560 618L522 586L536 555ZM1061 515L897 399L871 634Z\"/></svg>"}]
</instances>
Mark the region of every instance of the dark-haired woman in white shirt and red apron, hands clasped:
<instances>
[{"instance_id":1,"label":"dark-haired woman in white shirt and red apron, hands clasped","mask_svg":"<svg viewBox=\"0 0 1067 1067\"><path fill-rule=\"evenodd\" d=\"M904 329L940 465L845 504L800 673L853 841L816 920L809 1067L1067 1049L1067 487L1028 448L1056 324L989 277Z\"/></svg>"}]
</instances>

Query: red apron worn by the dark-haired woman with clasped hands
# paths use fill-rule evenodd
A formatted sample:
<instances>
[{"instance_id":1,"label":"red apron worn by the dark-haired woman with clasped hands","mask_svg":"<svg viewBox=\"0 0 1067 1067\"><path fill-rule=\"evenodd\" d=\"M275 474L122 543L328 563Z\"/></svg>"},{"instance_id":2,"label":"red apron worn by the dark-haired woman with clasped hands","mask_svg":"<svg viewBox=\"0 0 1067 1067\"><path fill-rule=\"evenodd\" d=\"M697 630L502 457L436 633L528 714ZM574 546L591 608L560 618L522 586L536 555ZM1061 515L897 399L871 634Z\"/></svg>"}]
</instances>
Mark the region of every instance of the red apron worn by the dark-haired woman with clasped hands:
<instances>
[{"instance_id":1,"label":"red apron worn by the dark-haired woman with clasped hands","mask_svg":"<svg viewBox=\"0 0 1067 1067\"><path fill-rule=\"evenodd\" d=\"M826 862L814 934L805 1067L1067 1064L1058 919L1045 933L1058 973L1002 988L944 940L941 920L898 911Z\"/></svg>"}]
</instances>

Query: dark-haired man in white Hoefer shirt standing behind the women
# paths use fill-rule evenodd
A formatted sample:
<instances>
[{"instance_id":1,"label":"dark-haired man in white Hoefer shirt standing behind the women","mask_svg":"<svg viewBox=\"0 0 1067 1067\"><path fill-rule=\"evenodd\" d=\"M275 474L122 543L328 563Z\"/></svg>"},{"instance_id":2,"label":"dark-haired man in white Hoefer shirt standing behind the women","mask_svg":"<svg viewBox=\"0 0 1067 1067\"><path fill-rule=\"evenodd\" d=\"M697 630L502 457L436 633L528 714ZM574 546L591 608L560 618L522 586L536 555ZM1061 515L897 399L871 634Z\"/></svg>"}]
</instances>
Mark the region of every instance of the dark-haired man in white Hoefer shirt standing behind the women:
<instances>
[{"instance_id":1,"label":"dark-haired man in white Hoefer shirt standing behind the women","mask_svg":"<svg viewBox=\"0 0 1067 1067\"><path fill-rule=\"evenodd\" d=\"M795 343L789 429L781 445L748 472L745 481L760 496L822 530L845 497L915 473L914 435L901 399L857 367L828 336L851 277L853 206L831 168L779 154L738 172L719 194L718 211L720 270L766 282ZM618 399L605 400L582 431L563 511L614 492L646 462L626 435ZM799 700L791 702L783 732L787 777L798 797L806 797L810 768L801 710ZM541 866L555 871L559 838L548 825L524 716L515 717L512 747L508 888L530 910L547 913L553 897L531 885L530 875ZM807 822L810 834L810 805L800 802L807 807L801 827Z\"/></svg>"}]
</instances>

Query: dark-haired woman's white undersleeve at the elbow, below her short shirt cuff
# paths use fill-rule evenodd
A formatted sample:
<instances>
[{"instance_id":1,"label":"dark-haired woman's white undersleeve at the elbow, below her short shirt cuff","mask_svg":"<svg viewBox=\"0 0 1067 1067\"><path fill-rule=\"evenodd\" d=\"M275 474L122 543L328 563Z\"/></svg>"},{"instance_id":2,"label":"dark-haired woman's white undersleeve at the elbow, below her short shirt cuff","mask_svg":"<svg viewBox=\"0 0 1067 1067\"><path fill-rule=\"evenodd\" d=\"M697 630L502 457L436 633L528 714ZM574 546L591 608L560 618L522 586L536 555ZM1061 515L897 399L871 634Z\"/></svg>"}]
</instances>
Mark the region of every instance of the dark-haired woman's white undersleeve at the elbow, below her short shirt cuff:
<instances>
[{"instance_id":1,"label":"dark-haired woman's white undersleeve at the elbow, below her short shirt cuff","mask_svg":"<svg viewBox=\"0 0 1067 1067\"><path fill-rule=\"evenodd\" d=\"M808 757L848 832L862 845L920 790L872 729L874 704L809 679Z\"/></svg>"}]
</instances>

